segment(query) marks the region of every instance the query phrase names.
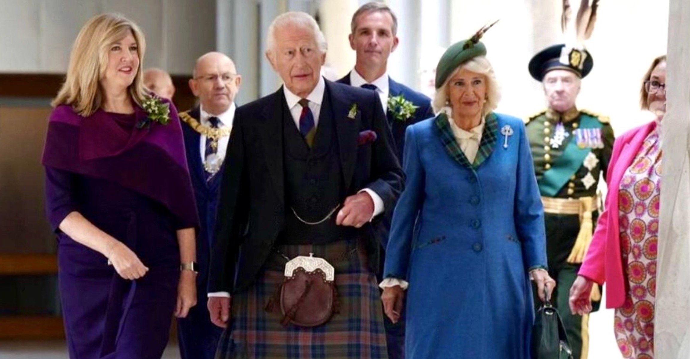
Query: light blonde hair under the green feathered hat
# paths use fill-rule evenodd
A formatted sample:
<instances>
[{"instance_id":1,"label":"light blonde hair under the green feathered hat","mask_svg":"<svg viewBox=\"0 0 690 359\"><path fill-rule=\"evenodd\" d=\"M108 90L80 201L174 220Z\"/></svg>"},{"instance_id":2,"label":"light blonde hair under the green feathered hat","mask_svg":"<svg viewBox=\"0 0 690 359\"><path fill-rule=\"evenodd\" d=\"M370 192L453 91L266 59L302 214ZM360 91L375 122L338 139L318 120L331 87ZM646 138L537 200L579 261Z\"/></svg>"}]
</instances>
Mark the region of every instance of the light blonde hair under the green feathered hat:
<instances>
[{"instance_id":1,"label":"light blonde hair under the green feathered hat","mask_svg":"<svg viewBox=\"0 0 690 359\"><path fill-rule=\"evenodd\" d=\"M455 68L455 71L448 76L448 79L443 83L443 85L436 90L434 94L433 101L431 105L436 113L440 112L443 107L449 105L448 103L448 83L453 79L453 76L460 72L460 70L465 69L471 72L476 72L477 74L482 74L486 77L486 102L484 107L482 107L482 116L486 116L498 107L498 101L501 100L501 88L496 80L496 74L493 72L493 67L486 57L478 56L468 61L461 63L460 66Z\"/></svg>"}]
</instances>

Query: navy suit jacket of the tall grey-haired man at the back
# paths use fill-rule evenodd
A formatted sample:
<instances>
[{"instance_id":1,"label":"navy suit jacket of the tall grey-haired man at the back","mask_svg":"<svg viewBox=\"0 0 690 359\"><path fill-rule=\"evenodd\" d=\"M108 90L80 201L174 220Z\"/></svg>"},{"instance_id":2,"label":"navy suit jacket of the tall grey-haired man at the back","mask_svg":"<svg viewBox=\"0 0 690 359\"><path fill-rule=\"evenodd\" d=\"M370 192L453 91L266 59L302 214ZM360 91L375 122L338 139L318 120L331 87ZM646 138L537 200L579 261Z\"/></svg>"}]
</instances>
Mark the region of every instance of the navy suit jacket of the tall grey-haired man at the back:
<instances>
[{"instance_id":1,"label":"navy suit jacket of the tall grey-haired man at the back","mask_svg":"<svg viewBox=\"0 0 690 359\"><path fill-rule=\"evenodd\" d=\"M350 85L350 74L346 74L345 77L339 79L337 82ZM391 76L388 76L388 97L399 95L411 101L415 106L419 106L417 110L415 110L415 114L407 121L396 120L393 117L393 112L386 111L388 125L391 126L391 132L393 132L393 139L395 140L395 152L397 158L402 163L402 149L405 147L405 130L407 126L433 117L434 114L433 108L431 107L431 99L420 92L408 88L402 83L393 81Z\"/></svg>"}]
</instances>

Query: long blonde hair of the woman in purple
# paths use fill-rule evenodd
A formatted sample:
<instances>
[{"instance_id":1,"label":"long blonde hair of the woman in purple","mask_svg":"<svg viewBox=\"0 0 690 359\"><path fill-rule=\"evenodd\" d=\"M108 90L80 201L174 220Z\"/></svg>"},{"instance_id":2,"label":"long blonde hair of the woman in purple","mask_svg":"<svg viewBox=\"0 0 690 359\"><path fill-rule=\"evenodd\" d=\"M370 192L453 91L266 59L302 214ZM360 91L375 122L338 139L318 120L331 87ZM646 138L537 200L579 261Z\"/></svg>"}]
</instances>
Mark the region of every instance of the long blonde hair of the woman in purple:
<instances>
[{"instance_id":1,"label":"long blonde hair of the woman in purple","mask_svg":"<svg viewBox=\"0 0 690 359\"><path fill-rule=\"evenodd\" d=\"M65 82L50 104L54 107L70 105L80 116L96 112L103 102L99 81L106 74L110 46L130 33L137 41L139 68L128 91L132 101L141 106L145 94L141 64L144 62L146 40L139 26L120 14L100 14L83 25L72 45Z\"/></svg>"}]
</instances>

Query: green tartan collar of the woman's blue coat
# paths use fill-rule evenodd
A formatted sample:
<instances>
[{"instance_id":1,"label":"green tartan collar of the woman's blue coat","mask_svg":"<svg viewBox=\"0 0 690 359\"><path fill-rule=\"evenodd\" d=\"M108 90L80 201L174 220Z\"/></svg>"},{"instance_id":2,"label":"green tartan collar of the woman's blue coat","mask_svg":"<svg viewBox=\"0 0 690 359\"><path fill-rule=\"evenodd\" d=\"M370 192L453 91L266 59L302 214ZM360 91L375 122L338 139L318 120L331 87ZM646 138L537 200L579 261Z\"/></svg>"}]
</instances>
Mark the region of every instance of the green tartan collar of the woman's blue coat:
<instances>
[{"instance_id":1,"label":"green tartan collar of the woman's blue coat","mask_svg":"<svg viewBox=\"0 0 690 359\"><path fill-rule=\"evenodd\" d=\"M453 158L457 163L460 163L463 167L471 170L476 170L479 168L486 158L491 156L493 152L493 147L495 147L496 139L498 136L498 121L496 115L491 112L484 118L484 132L482 132L482 141L480 141L479 150L477 150L477 156L473 163L469 163L465 154L460 150L460 145L455 141L455 136L453 136L453 130L451 130L451 124L449 123L448 116L441 112L436 116L434 123L437 130L439 131L439 139L446 150L446 152Z\"/></svg>"}]
</instances>

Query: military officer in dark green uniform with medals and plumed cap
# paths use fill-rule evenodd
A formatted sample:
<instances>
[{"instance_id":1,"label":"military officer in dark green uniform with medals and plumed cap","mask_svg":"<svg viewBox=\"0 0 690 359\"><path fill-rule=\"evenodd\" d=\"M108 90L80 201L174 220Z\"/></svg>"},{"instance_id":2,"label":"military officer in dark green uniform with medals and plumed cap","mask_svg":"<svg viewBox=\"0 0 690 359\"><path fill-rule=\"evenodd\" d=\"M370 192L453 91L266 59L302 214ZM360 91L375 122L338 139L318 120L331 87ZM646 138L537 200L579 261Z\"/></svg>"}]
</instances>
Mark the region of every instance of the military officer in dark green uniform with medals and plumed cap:
<instances>
[{"instance_id":1,"label":"military officer in dark green uniform with medals and plumed cap","mask_svg":"<svg viewBox=\"0 0 690 359\"><path fill-rule=\"evenodd\" d=\"M563 319L574 359L587 358L589 316L571 313L569 290L592 238L597 185L606 178L613 148L609 119L575 106L580 81L592 65L589 52L562 44L542 50L529 62L529 72L542 83L549 104L526 119L526 128L544 203L549 275L558 282L551 301ZM600 301L598 287L592 296Z\"/></svg>"}]
</instances>

